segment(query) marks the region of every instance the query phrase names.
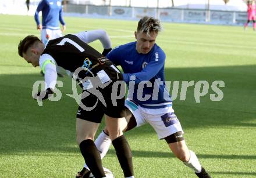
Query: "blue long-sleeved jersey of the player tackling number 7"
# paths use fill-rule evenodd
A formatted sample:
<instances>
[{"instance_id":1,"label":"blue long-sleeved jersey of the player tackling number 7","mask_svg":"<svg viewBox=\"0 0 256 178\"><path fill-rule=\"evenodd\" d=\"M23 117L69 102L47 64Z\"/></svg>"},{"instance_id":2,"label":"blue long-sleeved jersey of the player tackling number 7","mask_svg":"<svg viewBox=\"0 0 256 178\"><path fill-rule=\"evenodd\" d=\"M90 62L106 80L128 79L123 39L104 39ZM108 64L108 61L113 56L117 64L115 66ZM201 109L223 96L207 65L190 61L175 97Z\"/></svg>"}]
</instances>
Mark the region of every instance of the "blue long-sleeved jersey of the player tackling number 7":
<instances>
[{"instance_id":1,"label":"blue long-sleeved jersey of the player tackling number 7","mask_svg":"<svg viewBox=\"0 0 256 178\"><path fill-rule=\"evenodd\" d=\"M165 53L157 44L144 55L137 52L136 42L127 43L117 46L106 57L122 67L123 80L129 86L129 99L145 108L172 106L165 88Z\"/></svg>"}]
</instances>

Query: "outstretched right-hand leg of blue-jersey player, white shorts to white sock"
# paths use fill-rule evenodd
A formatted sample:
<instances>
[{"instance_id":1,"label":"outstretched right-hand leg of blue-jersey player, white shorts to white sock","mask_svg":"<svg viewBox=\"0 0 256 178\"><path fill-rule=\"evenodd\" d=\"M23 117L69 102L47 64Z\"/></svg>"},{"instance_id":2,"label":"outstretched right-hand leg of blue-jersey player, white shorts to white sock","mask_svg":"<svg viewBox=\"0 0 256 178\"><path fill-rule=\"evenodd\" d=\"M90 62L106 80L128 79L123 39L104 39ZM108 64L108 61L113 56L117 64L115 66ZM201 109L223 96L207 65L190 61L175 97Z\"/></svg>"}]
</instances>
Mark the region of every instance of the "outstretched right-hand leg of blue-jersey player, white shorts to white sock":
<instances>
[{"instance_id":1,"label":"outstretched right-hand leg of blue-jersey player, white shorts to white sock","mask_svg":"<svg viewBox=\"0 0 256 178\"><path fill-rule=\"evenodd\" d=\"M144 111L143 108L141 110ZM165 112L161 109L152 110L150 114L144 111L145 119L155 129L159 139L165 139L173 154L185 165L189 166L195 173L202 172L202 166L193 151L187 148L183 138L183 129L179 119L174 114L172 107L166 108ZM205 177L207 178L207 177Z\"/></svg>"}]
</instances>

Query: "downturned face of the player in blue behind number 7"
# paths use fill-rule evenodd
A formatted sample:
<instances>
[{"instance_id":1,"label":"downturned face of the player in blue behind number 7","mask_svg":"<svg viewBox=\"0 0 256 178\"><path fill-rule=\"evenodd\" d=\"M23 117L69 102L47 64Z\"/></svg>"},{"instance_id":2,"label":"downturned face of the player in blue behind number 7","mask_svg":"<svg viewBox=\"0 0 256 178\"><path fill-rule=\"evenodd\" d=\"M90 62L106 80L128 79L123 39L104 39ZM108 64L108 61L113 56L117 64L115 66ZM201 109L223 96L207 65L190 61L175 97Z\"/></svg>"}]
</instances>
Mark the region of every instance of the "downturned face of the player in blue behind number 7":
<instances>
[{"instance_id":1,"label":"downturned face of the player in blue behind number 7","mask_svg":"<svg viewBox=\"0 0 256 178\"><path fill-rule=\"evenodd\" d=\"M134 32L137 39L136 50L138 53L147 54L155 45L155 39L157 38L157 32L151 32L150 37L145 32Z\"/></svg>"}]
</instances>

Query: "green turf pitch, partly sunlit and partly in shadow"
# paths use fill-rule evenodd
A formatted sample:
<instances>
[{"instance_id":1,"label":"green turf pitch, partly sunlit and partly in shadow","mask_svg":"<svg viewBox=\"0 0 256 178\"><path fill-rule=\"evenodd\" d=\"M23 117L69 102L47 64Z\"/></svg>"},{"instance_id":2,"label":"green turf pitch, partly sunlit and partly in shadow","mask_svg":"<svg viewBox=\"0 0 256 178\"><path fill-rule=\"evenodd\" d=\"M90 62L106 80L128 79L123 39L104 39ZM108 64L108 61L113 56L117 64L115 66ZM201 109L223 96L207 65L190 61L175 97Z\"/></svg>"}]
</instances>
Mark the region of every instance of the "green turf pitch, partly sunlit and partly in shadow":
<instances>
[{"instance_id":1,"label":"green turf pitch, partly sunlit and partly in shadow","mask_svg":"<svg viewBox=\"0 0 256 178\"><path fill-rule=\"evenodd\" d=\"M103 28L112 46L134 40L136 21L65 17L66 33ZM74 177L83 166L76 145L76 102L64 78L62 99L43 107L31 97L43 78L17 55L28 34L40 35L31 16L0 15L0 177ZM212 177L256 177L256 33L250 28L163 23L157 43L166 53L168 81L208 81L207 95L195 103L194 87L173 102L186 142ZM92 46L102 51L99 42ZM224 97L211 101L213 81L224 81ZM103 125L101 125L102 128ZM101 129L100 128L100 129ZM145 125L126 133L136 177L195 177ZM122 177L111 146L103 160Z\"/></svg>"}]
</instances>

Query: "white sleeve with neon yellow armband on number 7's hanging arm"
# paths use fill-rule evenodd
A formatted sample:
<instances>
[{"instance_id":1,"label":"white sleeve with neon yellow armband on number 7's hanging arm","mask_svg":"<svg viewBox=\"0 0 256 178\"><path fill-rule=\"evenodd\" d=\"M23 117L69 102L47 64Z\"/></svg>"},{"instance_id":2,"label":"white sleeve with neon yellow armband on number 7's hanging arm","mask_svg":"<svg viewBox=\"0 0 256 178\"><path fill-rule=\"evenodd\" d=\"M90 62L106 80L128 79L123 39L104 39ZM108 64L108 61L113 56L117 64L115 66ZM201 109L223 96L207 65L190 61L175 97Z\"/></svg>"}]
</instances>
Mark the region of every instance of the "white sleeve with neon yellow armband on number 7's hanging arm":
<instances>
[{"instance_id":1,"label":"white sleeve with neon yellow armband on number 7's hanging arm","mask_svg":"<svg viewBox=\"0 0 256 178\"><path fill-rule=\"evenodd\" d=\"M44 72L45 89L54 89L57 79L56 62L47 54L44 54L39 59L39 65Z\"/></svg>"}]
</instances>

